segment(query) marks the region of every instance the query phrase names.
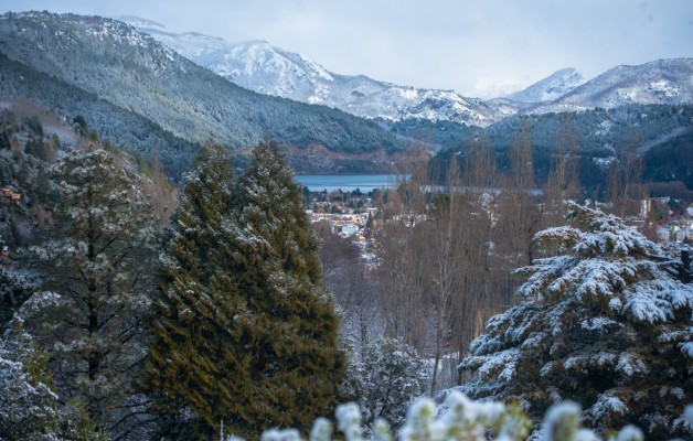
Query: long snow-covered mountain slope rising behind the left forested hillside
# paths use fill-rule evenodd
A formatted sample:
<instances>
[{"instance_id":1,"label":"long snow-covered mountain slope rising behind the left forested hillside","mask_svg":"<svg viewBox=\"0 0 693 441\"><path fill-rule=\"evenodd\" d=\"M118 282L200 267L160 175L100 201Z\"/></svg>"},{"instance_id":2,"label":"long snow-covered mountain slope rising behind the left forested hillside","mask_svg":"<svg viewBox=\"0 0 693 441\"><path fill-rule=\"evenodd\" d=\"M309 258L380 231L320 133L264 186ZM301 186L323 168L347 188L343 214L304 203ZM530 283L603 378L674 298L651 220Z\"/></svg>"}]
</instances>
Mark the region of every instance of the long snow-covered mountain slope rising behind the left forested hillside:
<instances>
[{"instance_id":1,"label":"long snow-covered mountain slope rising behind the left forested hillside","mask_svg":"<svg viewBox=\"0 0 693 441\"><path fill-rule=\"evenodd\" d=\"M425 118L480 127L499 119L495 106L454 90L420 89L363 75L334 74L265 41L232 44L199 33L170 33L160 24L142 19L119 19L201 66L258 93L320 104L366 118Z\"/></svg>"}]
</instances>

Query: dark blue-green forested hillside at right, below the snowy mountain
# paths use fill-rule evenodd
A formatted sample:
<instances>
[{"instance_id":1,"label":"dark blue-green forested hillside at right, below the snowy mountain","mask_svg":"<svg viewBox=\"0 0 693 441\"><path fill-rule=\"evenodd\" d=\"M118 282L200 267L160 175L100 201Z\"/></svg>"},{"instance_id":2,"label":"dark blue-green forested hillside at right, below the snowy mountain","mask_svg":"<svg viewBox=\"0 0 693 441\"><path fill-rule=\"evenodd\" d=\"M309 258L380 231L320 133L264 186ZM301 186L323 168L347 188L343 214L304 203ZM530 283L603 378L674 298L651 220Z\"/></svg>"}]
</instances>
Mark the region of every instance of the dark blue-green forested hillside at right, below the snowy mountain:
<instances>
[{"instance_id":1,"label":"dark blue-green forested hillside at right, below the snowy mountain","mask_svg":"<svg viewBox=\"0 0 693 441\"><path fill-rule=\"evenodd\" d=\"M691 106L633 105L574 114L516 115L486 129L402 121L392 130L418 137L423 142L439 143L444 150L436 161L440 163L448 163L455 154L463 155L473 142L487 142L504 170L509 170L513 144L526 137L532 146L537 185L546 182L555 146L567 140L579 157L580 184L588 190L604 189L610 166L625 149L632 148L643 158L646 182L678 181L693 189L693 159L686 148L693 133ZM445 170L445 165L439 169Z\"/></svg>"}]
</instances>

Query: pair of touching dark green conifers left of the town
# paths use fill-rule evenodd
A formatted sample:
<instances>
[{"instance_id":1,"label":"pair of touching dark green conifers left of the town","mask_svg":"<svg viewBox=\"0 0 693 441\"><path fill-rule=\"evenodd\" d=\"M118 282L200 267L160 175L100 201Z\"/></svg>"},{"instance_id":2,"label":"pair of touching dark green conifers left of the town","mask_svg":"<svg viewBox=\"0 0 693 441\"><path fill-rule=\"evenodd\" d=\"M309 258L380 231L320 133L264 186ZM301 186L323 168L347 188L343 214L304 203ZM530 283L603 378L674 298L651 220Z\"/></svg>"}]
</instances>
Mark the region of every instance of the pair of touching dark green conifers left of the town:
<instances>
[{"instance_id":1,"label":"pair of touching dark green conifers left of the town","mask_svg":"<svg viewBox=\"0 0 693 441\"><path fill-rule=\"evenodd\" d=\"M174 439L308 430L341 378L338 322L318 239L277 146L260 144L233 191L204 148L186 178L161 277L162 320L145 388Z\"/></svg>"}]
</instances>

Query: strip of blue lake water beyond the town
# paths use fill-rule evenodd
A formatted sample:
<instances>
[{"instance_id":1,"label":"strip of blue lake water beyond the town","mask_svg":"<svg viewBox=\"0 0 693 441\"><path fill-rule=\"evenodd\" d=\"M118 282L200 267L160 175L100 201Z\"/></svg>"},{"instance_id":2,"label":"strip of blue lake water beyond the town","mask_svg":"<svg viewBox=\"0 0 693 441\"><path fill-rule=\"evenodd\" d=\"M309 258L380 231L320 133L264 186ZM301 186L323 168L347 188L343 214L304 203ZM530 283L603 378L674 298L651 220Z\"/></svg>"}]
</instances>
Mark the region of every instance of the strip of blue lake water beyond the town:
<instances>
[{"instance_id":1,"label":"strip of blue lake water beyond the town","mask_svg":"<svg viewBox=\"0 0 693 441\"><path fill-rule=\"evenodd\" d=\"M341 190L353 192L359 189L367 193L374 189L386 189L396 185L397 176L394 174L296 174L294 178L311 192L328 193Z\"/></svg>"}]
</instances>

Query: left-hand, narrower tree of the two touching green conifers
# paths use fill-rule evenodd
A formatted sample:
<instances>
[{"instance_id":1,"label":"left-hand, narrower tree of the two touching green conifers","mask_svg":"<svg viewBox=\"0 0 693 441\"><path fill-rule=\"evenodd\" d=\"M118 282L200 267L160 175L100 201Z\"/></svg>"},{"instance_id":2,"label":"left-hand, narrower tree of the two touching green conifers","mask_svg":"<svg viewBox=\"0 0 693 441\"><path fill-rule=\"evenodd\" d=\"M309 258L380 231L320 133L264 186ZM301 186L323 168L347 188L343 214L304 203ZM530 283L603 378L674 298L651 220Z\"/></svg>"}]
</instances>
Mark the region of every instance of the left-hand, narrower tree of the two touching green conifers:
<instances>
[{"instance_id":1,"label":"left-hand, narrower tree of the two touching green conifers","mask_svg":"<svg viewBox=\"0 0 693 441\"><path fill-rule=\"evenodd\" d=\"M237 390L228 380L246 370L236 363L231 318L236 290L211 292L220 270L221 240L231 218L228 155L204 146L184 175L180 205L164 233L159 270L161 319L153 329L143 389L156 398L168 439L211 438Z\"/></svg>"}]
</instances>

